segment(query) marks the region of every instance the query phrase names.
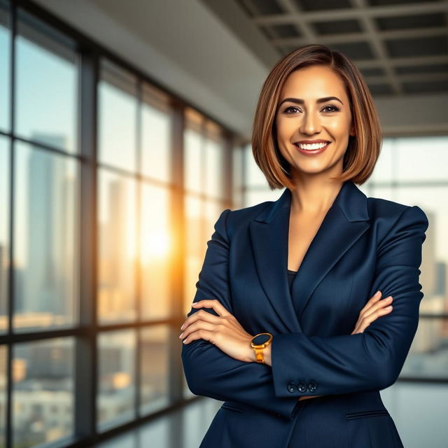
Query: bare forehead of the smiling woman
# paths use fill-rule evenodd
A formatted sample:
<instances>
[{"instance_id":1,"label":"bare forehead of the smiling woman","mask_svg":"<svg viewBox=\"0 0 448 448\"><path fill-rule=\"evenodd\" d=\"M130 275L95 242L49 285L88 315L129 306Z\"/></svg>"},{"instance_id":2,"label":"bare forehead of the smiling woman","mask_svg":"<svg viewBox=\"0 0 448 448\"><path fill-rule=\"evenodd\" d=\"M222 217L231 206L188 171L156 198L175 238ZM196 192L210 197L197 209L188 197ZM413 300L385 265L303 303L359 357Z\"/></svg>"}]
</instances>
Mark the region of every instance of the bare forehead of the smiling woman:
<instances>
[{"instance_id":1,"label":"bare forehead of the smiling woman","mask_svg":"<svg viewBox=\"0 0 448 448\"><path fill-rule=\"evenodd\" d=\"M307 66L289 74L280 97L313 99L320 97L346 97L344 81L327 66Z\"/></svg>"}]
</instances>

